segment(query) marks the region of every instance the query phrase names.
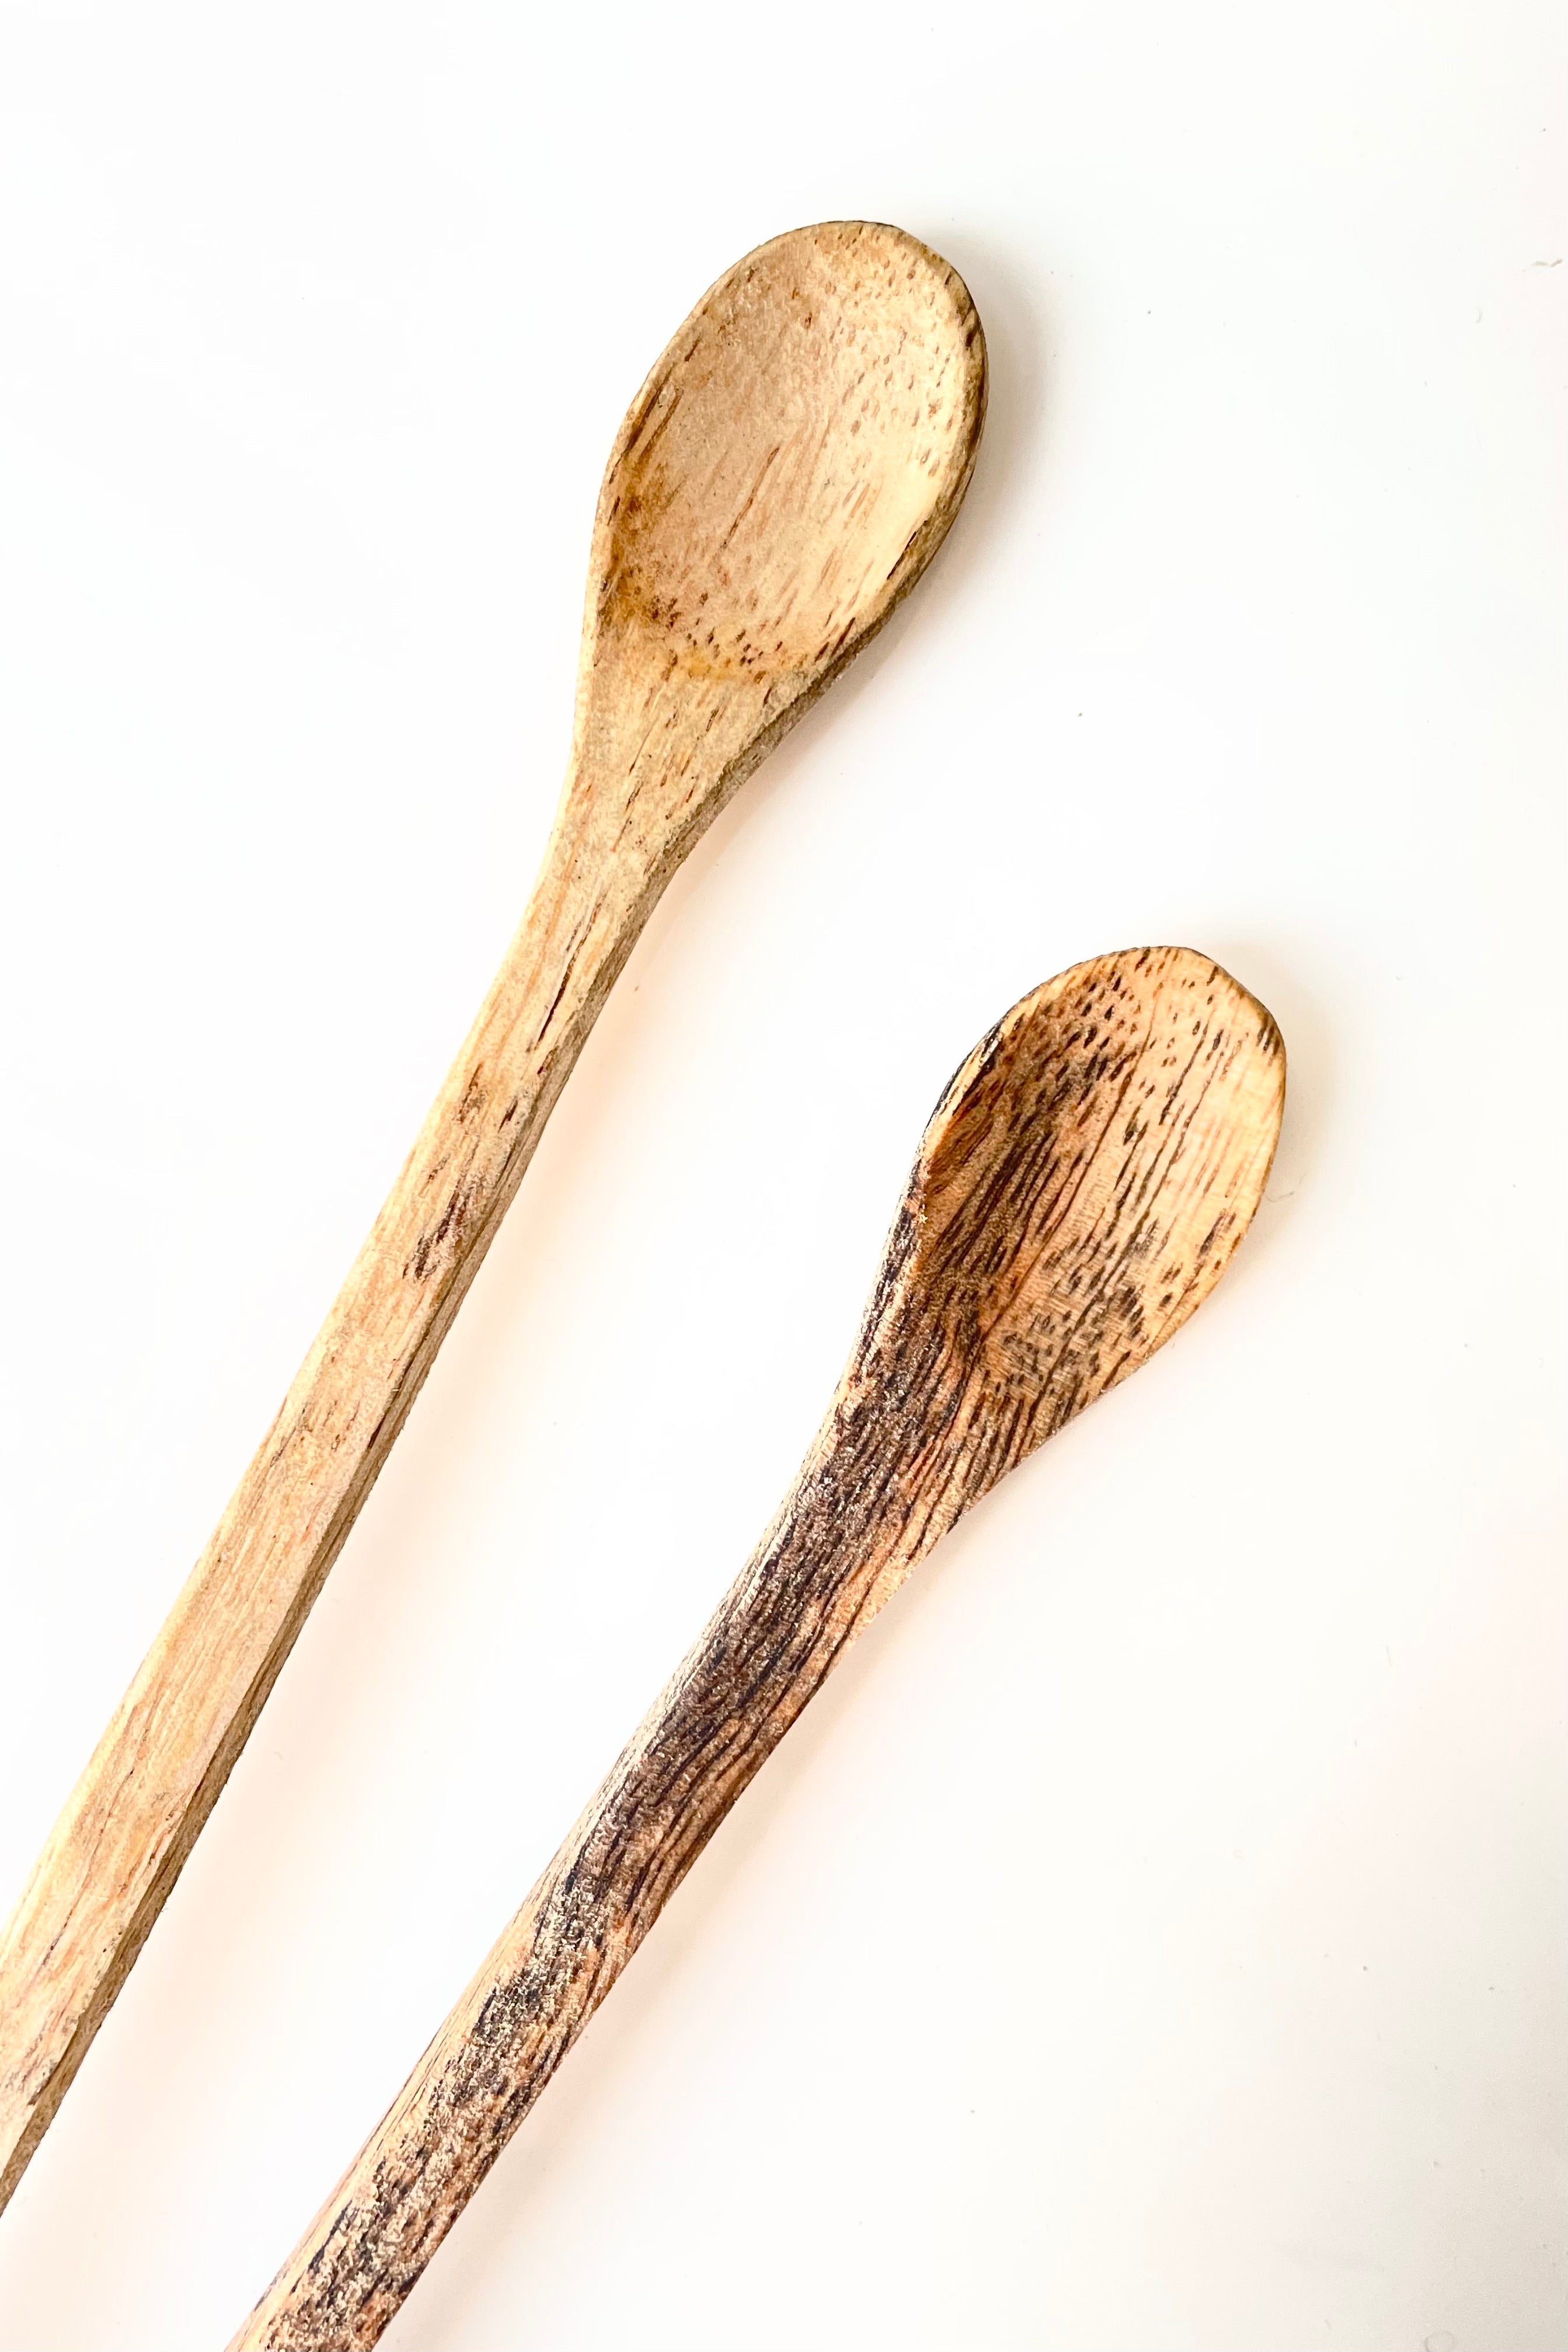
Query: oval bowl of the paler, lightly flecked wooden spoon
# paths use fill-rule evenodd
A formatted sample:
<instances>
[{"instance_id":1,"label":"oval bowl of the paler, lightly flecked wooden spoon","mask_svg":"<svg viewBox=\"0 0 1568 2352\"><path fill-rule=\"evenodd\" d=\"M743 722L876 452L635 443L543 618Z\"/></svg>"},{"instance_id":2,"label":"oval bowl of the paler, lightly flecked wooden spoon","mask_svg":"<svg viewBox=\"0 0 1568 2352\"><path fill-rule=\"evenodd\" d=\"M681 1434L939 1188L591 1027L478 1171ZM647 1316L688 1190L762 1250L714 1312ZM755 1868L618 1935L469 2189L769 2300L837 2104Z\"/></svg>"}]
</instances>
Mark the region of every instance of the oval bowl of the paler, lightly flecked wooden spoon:
<instances>
[{"instance_id":1,"label":"oval bowl of the paler, lightly flecked wooden spoon","mask_svg":"<svg viewBox=\"0 0 1568 2352\"><path fill-rule=\"evenodd\" d=\"M599 619L689 677L825 682L936 553L983 414L980 320L938 254L872 221L773 238L625 419Z\"/></svg>"}]
</instances>

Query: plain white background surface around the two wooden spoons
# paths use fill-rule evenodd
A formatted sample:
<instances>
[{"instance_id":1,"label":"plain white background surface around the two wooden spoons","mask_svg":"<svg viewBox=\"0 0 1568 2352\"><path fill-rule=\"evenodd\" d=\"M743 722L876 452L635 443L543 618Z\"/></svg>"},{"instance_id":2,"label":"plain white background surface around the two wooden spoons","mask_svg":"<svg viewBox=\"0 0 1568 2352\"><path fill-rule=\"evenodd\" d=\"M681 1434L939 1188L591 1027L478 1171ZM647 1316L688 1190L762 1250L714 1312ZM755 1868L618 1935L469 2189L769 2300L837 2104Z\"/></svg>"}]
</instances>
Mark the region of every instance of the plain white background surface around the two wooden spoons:
<instances>
[{"instance_id":1,"label":"plain white background surface around the two wooden spoons","mask_svg":"<svg viewBox=\"0 0 1568 2352\"><path fill-rule=\"evenodd\" d=\"M1077 957L1291 1049L1204 1315L931 1559L397 2352L1568 2345L1554 0L12 7L0 1907L522 910L623 407L799 221L992 416L677 877L0 2223L230 2333L729 1583Z\"/></svg>"}]
</instances>

